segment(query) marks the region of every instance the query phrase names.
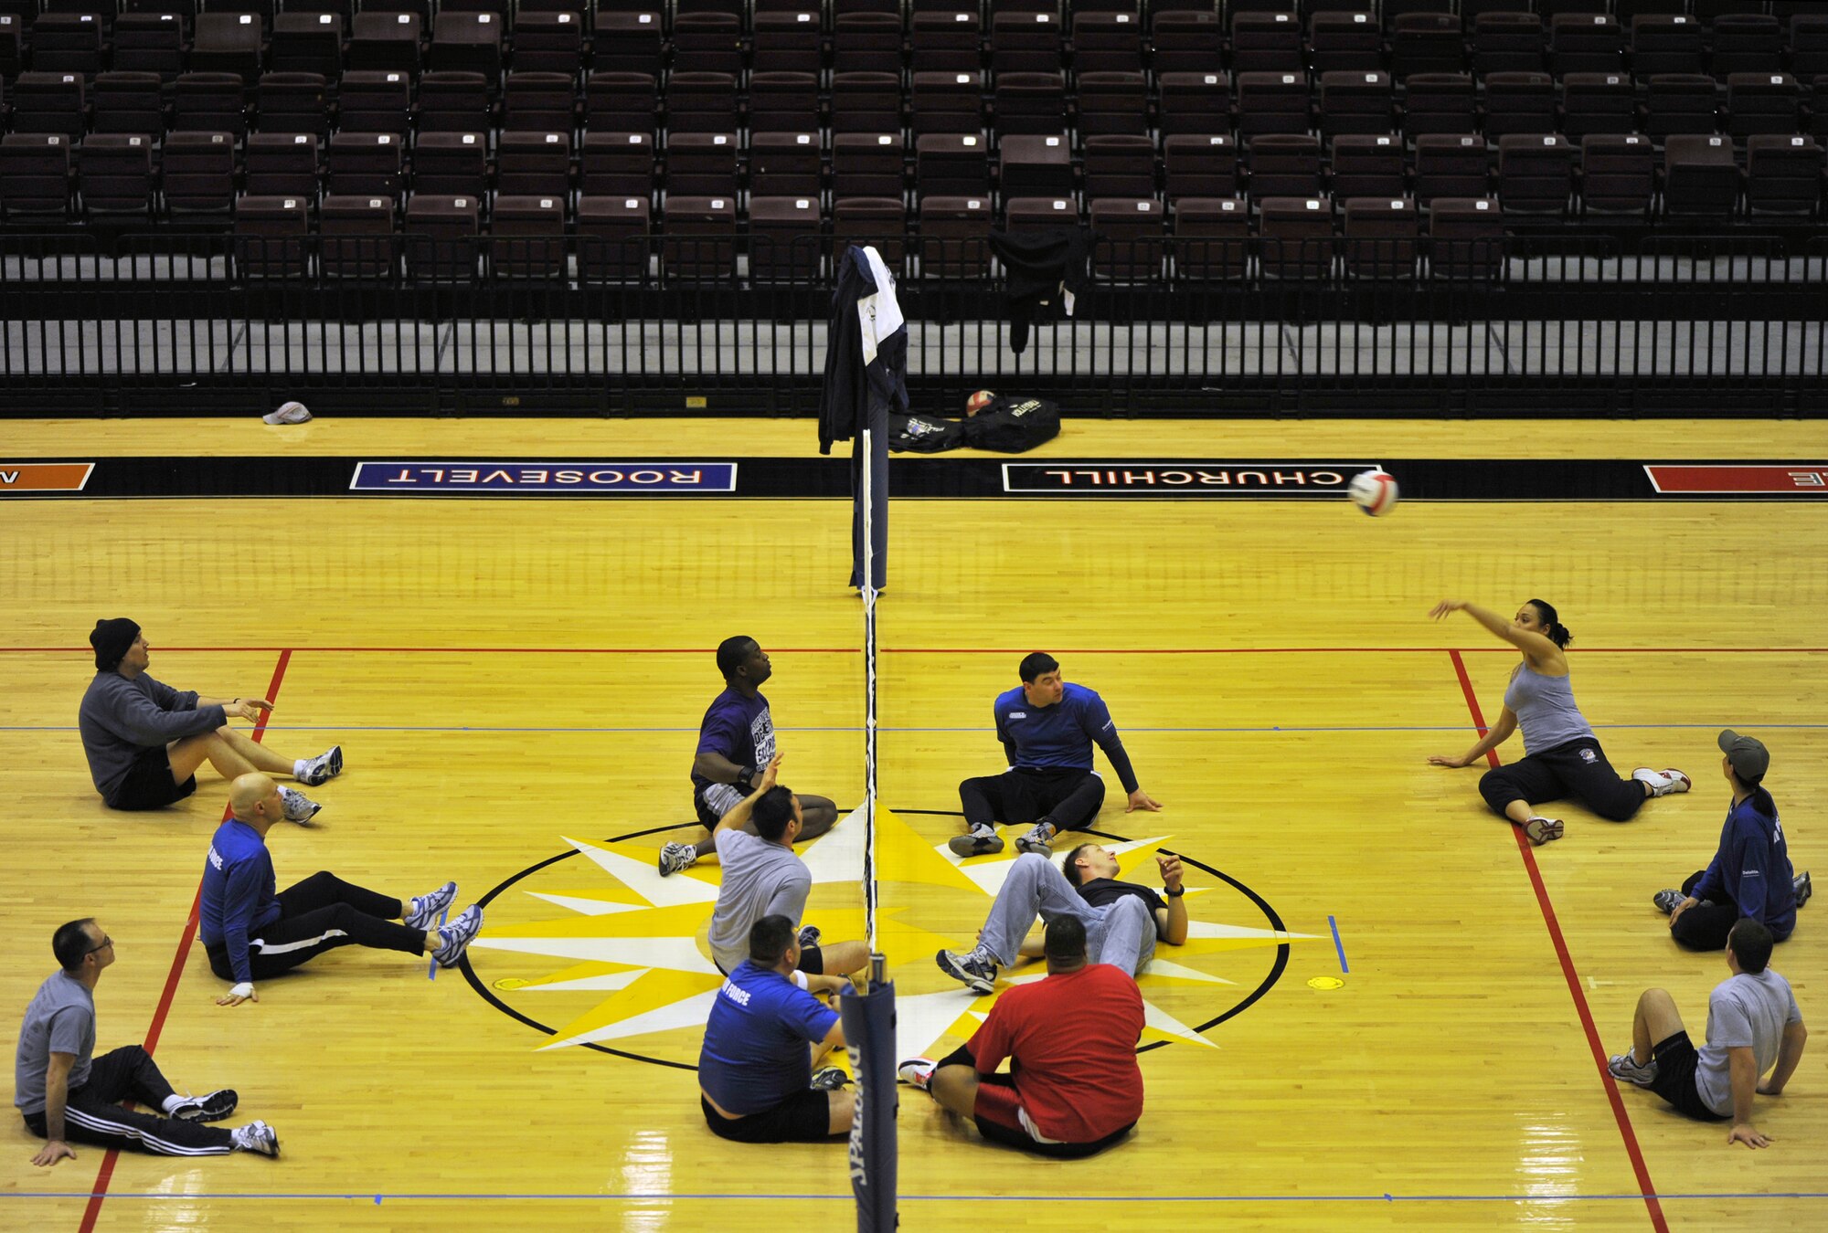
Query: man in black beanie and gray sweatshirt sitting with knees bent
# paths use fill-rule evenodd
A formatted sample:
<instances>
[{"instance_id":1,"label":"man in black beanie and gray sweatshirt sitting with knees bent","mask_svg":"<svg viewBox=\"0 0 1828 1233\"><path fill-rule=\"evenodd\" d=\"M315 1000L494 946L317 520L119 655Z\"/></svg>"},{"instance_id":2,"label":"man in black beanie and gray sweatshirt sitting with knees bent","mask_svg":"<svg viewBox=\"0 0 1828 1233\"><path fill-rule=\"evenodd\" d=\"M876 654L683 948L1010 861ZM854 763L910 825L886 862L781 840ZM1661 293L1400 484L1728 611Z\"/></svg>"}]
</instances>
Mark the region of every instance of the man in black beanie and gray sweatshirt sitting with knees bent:
<instances>
[{"instance_id":1,"label":"man in black beanie and gray sweatshirt sitting with knees bent","mask_svg":"<svg viewBox=\"0 0 1828 1233\"><path fill-rule=\"evenodd\" d=\"M316 785L342 771L342 745L316 758L285 758L228 727L228 716L260 720L265 698L199 698L146 676L152 648L135 621L110 617L90 634L95 680L82 694L77 727L90 778L110 809L163 809L197 791L196 771L208 762L232 780L249 771L291 775ZM320 806L296 787L282 787L285 817L305 822Z\"/></svg>"}]
</instances>

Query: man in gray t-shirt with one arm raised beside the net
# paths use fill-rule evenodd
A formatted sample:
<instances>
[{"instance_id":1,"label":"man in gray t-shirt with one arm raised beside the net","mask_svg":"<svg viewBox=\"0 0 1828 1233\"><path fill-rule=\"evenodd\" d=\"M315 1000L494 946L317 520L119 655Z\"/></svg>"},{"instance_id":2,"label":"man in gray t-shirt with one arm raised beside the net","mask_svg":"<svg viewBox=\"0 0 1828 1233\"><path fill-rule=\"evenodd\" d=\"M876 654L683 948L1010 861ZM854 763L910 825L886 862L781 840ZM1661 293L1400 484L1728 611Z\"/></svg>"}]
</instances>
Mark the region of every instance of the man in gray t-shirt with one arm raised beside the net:
<instances>
[{"instance_id":1,"label":"man in gray t-shirt with one arm raised beside the net","mask_svg":"<svg viewBox=\"0 0 1828 1233\"><path fill-rule=\"evenodd\" d=\"M812 988L837 990L841 974L857 972L870 961L863 943L832 943L819 946L819 930L801 928L806 895L812 893L812 871L793 855L793 840L802 829L799 796L777 787L781 756L768 764L755 793L744 796L717 824L717 853L724 864L724 879L717 891L717 910L711 913L711 957L724 974L735 972L749 957L749 930L762 917L786 917L799 930L799 970L813 981Z\"/></svg>"}]
</instances>

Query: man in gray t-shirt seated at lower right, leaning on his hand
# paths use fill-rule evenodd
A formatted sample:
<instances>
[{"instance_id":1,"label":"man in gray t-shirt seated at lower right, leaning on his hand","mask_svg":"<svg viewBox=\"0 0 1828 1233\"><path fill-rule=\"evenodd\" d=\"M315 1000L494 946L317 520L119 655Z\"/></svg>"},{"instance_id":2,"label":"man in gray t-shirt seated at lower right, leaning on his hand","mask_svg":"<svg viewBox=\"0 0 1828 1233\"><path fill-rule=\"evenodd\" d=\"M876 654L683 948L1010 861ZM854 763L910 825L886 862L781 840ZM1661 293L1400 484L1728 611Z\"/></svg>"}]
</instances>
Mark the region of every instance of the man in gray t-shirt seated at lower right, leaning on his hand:
<instances>
[{"instance_id":1,"label":"man in gray t-shirt seated at lower right, leaning on his hand","mask_svg":"<svg viewBox=\"0 0 1828 1233\"><path fill-rule=\"evenodd\" d=\"M1770 961L1771 930L1742 917L1726 939L1733 977L1707 996L1707 1043L1696 1052L1682 1030L1676 1001L1649 988L1631 1023L1631 1050L1610 1061L1612 1076L1649 1087L1691 1118L1731 1118L1727 1143L1768 1147L1771 1140L1751 1123L1753 1091L1780 1094L1808 1039L1790 981L1771 972ZM1766 1070L1771 1078L1760 1083Z\"/></svg>"}]
</instances>

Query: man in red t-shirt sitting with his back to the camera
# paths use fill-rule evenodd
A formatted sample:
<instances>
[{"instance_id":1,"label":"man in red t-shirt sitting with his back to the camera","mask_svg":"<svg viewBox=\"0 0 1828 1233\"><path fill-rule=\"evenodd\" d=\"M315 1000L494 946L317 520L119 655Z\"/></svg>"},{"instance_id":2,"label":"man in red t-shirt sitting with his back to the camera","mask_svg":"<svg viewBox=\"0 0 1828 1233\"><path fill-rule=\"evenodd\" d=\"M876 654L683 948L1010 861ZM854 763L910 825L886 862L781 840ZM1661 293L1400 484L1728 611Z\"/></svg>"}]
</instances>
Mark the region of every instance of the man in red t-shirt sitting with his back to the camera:
<instances>
[{"instance_id":1,"label":"man in red t-shirt sitting with his back to the camera","mask_svg":"<svg viewBox=\"0 0 1828 1233\"><path fill-rule=\"evenodd\" d=\"M1086 963L1077 917L1047 922L1046 950L1046 979L1004 992L969 1045L903 1061L899 1074L993 1143L1089 1156L1142 1114L1142 994L1122 968ZM996 1074L1004 1058L1009 1074Z\"/></svg>"}]
</instances>

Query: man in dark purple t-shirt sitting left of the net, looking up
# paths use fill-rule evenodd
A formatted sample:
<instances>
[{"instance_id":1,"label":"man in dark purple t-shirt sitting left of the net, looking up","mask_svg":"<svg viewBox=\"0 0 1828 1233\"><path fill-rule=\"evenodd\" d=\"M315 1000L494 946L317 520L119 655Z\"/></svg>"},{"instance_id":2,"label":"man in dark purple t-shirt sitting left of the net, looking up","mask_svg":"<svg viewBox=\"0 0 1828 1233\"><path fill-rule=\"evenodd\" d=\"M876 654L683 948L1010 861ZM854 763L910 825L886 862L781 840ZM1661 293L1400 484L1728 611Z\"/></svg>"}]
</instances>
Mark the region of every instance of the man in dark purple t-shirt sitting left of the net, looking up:
<instances>
[{"instance_id":1,"label":"man in dark purple t-shirt sitting left of the net, looking up","mask_svg":"<svg viewBox=\"0 0 1828 1233\"><path fill-rule=\"evenodd\" d=\"M704 835L691 844L665 844L660 877L717 853L717 824L755 791L775 756L775 720L762 698L762 681L773 676L768 652L753 638L726 638L717 647L717 670L724 674L724 692L706 707L691 764L691 800ZM801 838L817 838L837 822L837 806L828 796L795 796L804 818ZM753 826L744 829L755 833Z\"/></svg>"}]
</instances>

